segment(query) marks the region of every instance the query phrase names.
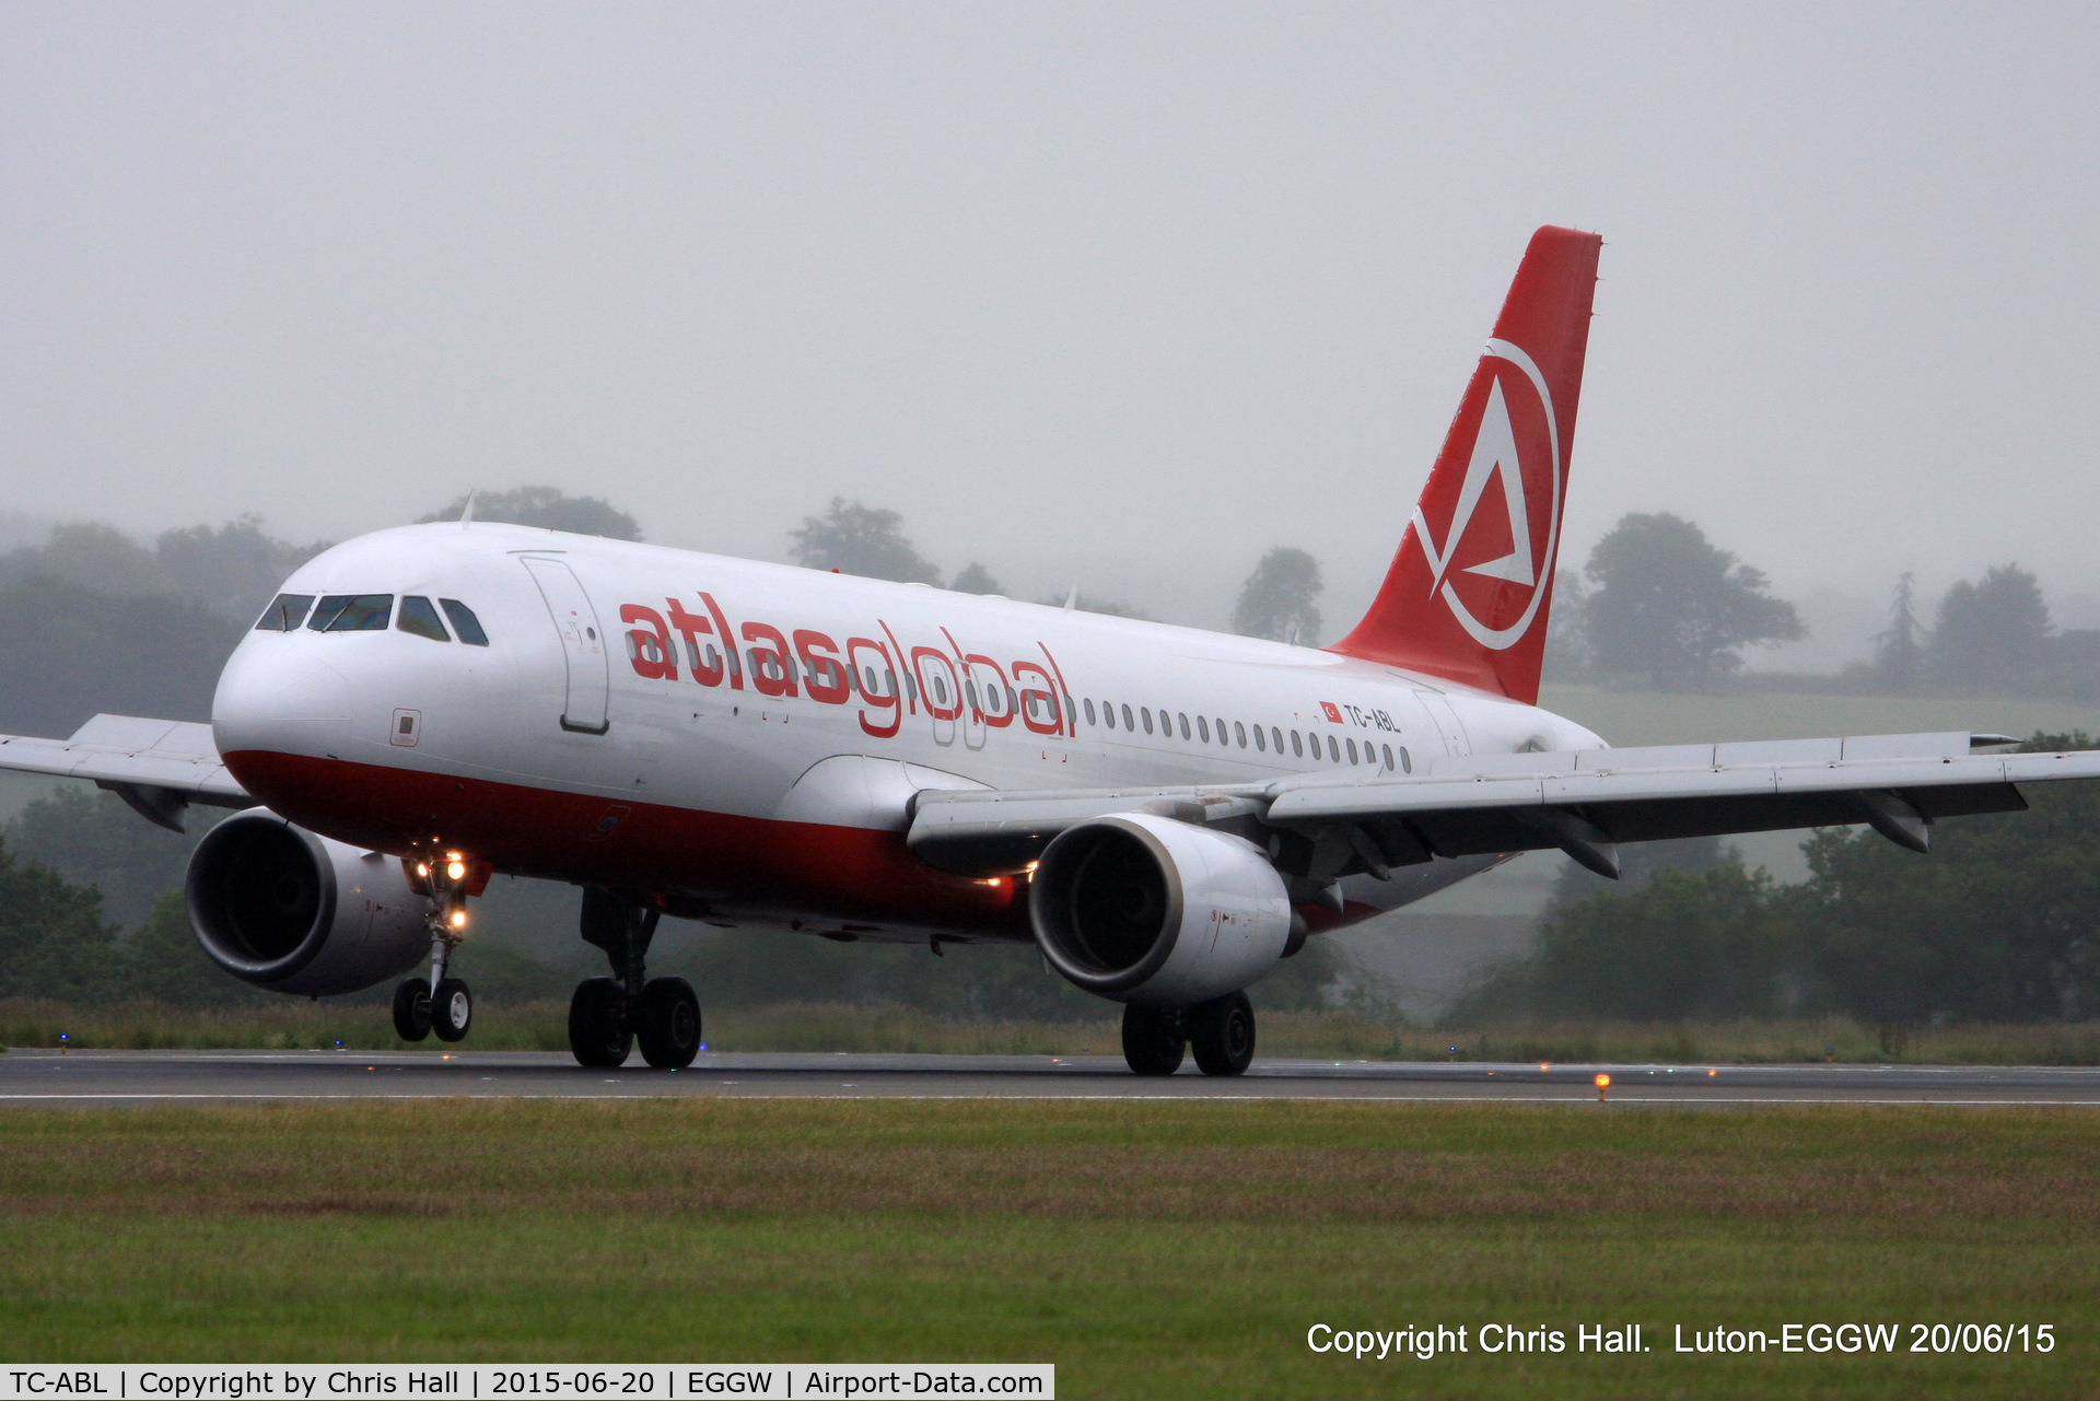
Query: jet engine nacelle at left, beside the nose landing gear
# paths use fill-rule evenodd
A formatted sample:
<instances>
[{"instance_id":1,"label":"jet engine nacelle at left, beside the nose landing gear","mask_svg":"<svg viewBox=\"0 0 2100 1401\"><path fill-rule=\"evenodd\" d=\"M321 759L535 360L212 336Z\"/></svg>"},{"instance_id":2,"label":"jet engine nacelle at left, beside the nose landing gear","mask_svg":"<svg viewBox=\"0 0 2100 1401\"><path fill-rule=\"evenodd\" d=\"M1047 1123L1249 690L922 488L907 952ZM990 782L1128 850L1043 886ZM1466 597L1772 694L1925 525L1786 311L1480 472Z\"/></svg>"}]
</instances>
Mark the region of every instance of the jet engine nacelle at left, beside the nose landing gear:
<instances>
[{"instance_id":1,"label":"jet engine nacelle at left, beside the nose landing gear","mask_svg":"<svg viewBox=\"0 0 2100 1401\"><path fill-rule=\"evenodd\" d=\"M212 962L271 991L359 991L430 952L428 901L397 859L315 836L262 807L197 842L183 899Z\"/></svg>"}]
</instances>

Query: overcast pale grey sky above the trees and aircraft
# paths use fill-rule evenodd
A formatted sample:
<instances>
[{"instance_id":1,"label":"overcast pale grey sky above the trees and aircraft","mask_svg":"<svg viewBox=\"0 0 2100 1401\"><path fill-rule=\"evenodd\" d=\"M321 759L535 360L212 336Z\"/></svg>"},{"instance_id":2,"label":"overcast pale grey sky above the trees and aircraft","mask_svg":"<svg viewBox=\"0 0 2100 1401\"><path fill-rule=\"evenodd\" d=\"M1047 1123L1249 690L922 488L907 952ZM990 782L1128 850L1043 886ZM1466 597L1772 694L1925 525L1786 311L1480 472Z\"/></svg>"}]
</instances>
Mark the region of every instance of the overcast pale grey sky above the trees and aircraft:
<instances>
[{"instance_id":1,"label":"overcast pale grey sky above the trees and aircraft","mask_svg":"<svg viewBox=\"0 0 2100 1401\"><path fill-rule=\"evenodd\" d=\"M1541 223L1569 555L2100 592L2092 6L0 8L0 508L292 538L556 483L1220 626L1376 588ZM1564 557L1567 559L1567 557Z\"/></svg>"}]
</instances>

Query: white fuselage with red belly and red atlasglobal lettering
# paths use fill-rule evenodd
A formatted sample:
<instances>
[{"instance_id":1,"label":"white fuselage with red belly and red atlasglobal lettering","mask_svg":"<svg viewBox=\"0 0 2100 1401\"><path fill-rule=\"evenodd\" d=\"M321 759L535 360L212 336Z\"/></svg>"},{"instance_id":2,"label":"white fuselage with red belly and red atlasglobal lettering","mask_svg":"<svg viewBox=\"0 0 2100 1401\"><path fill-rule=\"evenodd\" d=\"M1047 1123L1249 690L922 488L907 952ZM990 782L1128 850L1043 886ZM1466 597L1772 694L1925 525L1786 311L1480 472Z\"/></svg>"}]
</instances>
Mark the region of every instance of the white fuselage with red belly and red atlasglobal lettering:
<instances>
[{"instance_id":1,"label":"white fuselage with red belly and red atlasglobal lettering","mask_svg":"<svg viewBox=\"0 0 2100 1401\"><path fill-rule=\"evenodd\" d=\"M258 800L397 855L819 933L1025 937L1014 882L909 855L916 788L1371 779L1602 744L1308 647L514 525L363 536L284 588L395 615L235 649L212 723ZM489 643L401 630L410 597L468 605ZM1354 878L1352 914L1485 865Z\"/></svg>"}]
</instances>

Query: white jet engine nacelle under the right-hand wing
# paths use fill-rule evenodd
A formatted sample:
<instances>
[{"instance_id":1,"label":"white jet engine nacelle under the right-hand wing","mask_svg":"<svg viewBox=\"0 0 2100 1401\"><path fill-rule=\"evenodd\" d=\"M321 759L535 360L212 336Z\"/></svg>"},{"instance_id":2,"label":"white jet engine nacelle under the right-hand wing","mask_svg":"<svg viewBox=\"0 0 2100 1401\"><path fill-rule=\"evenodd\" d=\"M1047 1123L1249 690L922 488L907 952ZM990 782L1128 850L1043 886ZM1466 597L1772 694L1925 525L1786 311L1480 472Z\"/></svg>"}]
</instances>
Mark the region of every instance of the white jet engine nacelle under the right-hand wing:
<instances>
[{"instance_id":1,"label":"white jet engine nacelle under the right-hand wing","mask_svg":"<svg viewBox=\"0 0 2100 1401\"><path fill-rule=\"evenodd\" d=\"M1086 991L1170 1006L1245 987L1292 935L1283 878L1260 846L1151 813L1096 817L1050 842L1029 918L1050 966Z\"/></svg>"}]
</instances>

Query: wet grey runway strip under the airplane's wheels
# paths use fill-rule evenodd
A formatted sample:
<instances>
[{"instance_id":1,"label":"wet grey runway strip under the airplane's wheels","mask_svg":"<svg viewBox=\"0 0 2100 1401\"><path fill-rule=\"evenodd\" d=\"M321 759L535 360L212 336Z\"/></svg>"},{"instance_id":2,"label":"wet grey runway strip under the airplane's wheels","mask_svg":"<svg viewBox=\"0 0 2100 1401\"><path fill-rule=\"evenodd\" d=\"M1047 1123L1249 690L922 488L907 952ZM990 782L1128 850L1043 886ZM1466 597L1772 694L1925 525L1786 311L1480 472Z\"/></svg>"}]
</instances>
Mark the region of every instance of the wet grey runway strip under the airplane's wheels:
<instances>
[{"instance_id":1,"label":"wet grey runway strip under the airplane's wheels","mask_svg":"<svg viewBox=\"0 0 2100 1401\"><path fill-rule=\"evenodd\" d=\"M1487 1065L1256 1061L1237 1080L1193 1065L1140 1080L1115 1057L890 1057L706 1052L685 1071L640 1057L588 1071L525 1050L8 1050L0 1107L109 1107L344 1099L1329 1099L1617 1105L2064 1105L2100 1107L2100 1069L1922 1065Z\"/></svg>"}]
</instances>

